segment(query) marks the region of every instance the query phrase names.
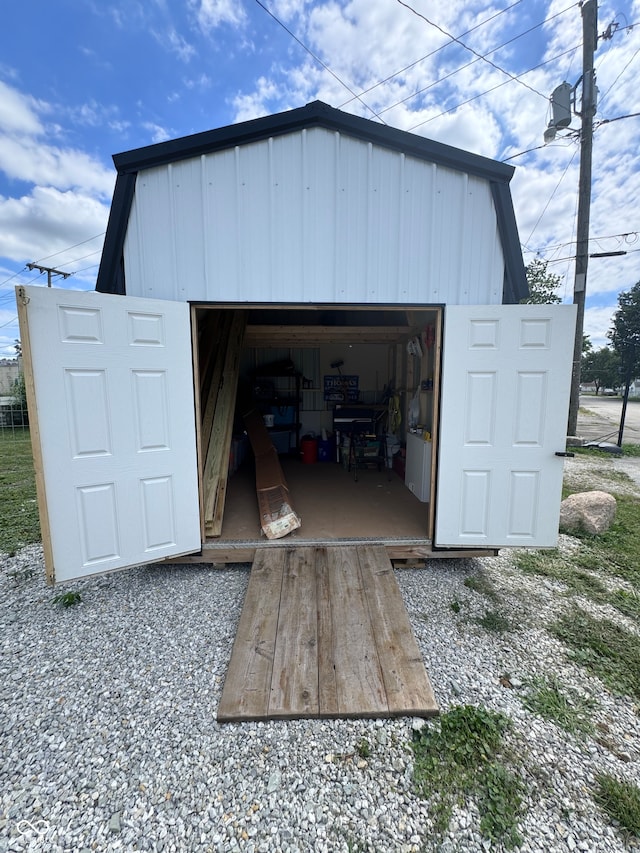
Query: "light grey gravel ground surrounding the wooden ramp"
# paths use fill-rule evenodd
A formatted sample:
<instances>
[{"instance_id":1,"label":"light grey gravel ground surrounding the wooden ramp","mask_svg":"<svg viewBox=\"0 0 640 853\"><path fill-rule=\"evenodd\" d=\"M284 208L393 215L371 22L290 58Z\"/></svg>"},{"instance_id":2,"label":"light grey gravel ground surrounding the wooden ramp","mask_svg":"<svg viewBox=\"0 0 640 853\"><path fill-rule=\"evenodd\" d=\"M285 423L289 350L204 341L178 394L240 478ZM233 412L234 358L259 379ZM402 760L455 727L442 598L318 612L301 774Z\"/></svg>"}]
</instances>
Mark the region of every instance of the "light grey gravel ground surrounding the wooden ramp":
<instances>
[{"instance_id":1,"label":"light grey gravel ground surrounding the wooden ramp","mask_svg":"<svg viewBox=\"0 0 640 853\"><path fill-rule=\"evenodd\" d=\"M518 630L472 621L487 601L464 580L479 572ZM2 558L0 851L500 849L481 838L473 804L435 838L412 793L411 719L216 723L248 574L142 567L75 584L82 603L65 610L52 605L39 547ZM396 575L441 709L482 704L514 723L528 791L521 849L640 849L590 796L599 771L640 778L638 708L545 630L574 606L559 585L522 575L507 552ZM616 611L581 605L637 632ZM592 697L606 739L527 711L524 684L540 673Z\"/></svg>"}]
</instances>

